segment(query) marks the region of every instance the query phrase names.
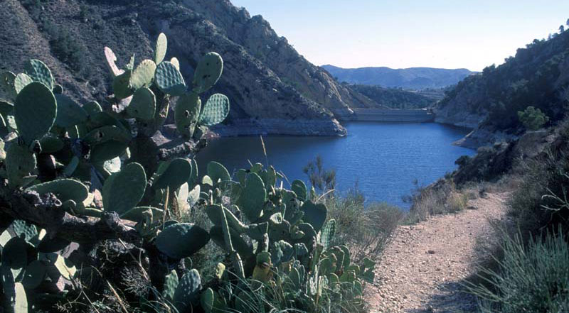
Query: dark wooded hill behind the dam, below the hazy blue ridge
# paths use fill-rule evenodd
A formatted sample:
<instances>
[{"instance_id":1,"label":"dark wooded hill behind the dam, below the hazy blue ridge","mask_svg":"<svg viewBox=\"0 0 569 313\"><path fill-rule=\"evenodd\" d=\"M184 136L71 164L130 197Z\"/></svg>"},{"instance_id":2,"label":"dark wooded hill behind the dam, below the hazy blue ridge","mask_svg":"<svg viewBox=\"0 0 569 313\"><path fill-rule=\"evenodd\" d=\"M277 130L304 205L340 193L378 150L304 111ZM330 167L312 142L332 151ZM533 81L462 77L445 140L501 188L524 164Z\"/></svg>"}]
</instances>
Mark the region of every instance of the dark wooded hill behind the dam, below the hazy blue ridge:
<instances>
[{"instance_id":1,"label":"dark wooded hill behind the dam, below the hazy blue ridge","mask_svg":"<svg viewBox=\"0 0 569 313\"><path fill-rule=\"evenodd\" d=\"M383 88L365 84L351 84L351 89L390 109L422 109L435 104L435 99L415 92L395 88Z\"/></svg>"}]
</instances>

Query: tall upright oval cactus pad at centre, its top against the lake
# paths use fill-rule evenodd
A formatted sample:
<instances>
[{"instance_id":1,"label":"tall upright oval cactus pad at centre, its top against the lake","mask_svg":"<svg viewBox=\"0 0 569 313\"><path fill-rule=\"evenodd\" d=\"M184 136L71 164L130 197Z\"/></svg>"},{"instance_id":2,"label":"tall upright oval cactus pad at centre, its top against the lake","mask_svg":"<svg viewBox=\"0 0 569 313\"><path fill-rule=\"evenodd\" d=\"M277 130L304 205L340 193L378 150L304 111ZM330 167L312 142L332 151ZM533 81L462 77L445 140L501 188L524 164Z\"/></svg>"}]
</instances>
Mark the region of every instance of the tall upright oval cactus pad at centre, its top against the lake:
<instances>
[{"instance_id":1,"label":"tall upright oval cactus pad at centre, its top against the lake","mask_svg":"<svg viewBox=\"0 0 569 313\"><path fill-rule=\"evenodd\" d=\"M255 222L259 219L266 198L267 191L261 177L253 172L250 173L238 200L241 211L249 221Z\"/></svg>"}]
</instances>

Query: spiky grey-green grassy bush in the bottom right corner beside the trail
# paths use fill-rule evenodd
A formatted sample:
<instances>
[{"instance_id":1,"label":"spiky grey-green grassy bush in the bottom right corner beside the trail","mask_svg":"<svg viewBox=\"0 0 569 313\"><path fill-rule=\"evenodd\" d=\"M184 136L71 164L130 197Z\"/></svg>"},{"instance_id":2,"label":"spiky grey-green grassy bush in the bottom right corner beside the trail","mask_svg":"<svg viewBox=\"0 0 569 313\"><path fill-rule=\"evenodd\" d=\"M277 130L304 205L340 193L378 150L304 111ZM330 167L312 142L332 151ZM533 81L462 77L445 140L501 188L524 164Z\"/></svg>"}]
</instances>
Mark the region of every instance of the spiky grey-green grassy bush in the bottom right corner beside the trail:
<instances>
[{"instance_id":1,"label":"spiky grey-green grassy bush in the bottom right corner beside the trail","mask_svg":"<svg viewBox=\"0 0 569 313\"><path fill-rule=\"evenodd\" d=\"M469 285L484 313L569 312L569 246L548 234L523 244L504 235L499 271L482 270L489 285Z\"/></svg>"}]
</instances>

